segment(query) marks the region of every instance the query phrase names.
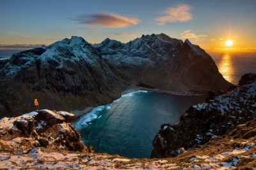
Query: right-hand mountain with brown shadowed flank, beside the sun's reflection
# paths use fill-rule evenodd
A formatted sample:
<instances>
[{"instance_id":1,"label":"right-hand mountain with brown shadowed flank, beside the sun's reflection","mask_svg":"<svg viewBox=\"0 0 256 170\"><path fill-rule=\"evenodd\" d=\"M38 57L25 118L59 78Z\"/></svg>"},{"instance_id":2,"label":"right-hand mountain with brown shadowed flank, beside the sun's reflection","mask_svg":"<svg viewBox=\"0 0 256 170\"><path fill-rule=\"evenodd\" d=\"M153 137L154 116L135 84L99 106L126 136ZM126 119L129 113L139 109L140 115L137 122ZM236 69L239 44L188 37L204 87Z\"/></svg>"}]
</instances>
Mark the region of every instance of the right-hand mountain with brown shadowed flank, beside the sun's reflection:
<instances>
[{"instance_id":1,"label":"right-hand mountain with brown shadowed flank, beside the sun's reflection","mask_svg":"<svg viewBox=\"0 0 256 170\"><path fill-rule=\"evenodd\" d=\"M231 85L211 57L188 39L151 34L129 43L107 38L94 46L135 85L192 94L227 90Z\"/></svg>"}]
</instances>

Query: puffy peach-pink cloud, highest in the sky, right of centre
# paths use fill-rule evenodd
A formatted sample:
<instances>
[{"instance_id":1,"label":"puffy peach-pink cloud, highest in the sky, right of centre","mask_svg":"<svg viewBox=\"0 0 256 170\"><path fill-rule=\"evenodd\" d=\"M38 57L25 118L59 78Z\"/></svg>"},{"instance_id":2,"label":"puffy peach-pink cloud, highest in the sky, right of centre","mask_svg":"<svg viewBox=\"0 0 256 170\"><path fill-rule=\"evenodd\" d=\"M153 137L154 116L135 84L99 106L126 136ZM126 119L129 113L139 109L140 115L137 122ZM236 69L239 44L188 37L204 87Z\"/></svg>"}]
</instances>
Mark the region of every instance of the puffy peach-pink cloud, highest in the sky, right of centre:
<instances>
[{"instance_id":1,"label":"puffy peach-pink cloud, highest in the sky, right of centre","mask_svg":"<svg viewBox=\"0 0 256 170\"><path fill-rule=\"evenodd\" d=\"M186 22L193 19L189 12L190 9L191 6L189 4L179 4L167 8L166 11L164 11L166 15L155 18L155 20L158 22L158 25L164 25L166 22Z\"/></svg>"}]
</instances>

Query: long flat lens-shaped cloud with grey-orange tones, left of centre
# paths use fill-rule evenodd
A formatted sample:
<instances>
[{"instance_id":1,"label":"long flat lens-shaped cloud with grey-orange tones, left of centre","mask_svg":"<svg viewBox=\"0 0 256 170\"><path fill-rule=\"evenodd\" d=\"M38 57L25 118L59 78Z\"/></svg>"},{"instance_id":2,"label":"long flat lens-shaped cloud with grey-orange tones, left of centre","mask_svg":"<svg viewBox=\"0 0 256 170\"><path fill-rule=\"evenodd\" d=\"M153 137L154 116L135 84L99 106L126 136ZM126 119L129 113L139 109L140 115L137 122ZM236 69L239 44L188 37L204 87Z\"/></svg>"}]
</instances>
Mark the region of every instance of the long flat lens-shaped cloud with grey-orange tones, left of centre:
<instances>
[{"instance_id":1,"label":"long flat lens-shaped cloud with grey-orange tones, left of centre","mask_svg":"<svg viewBox=\"0 0 256 170\"><path fill-rule=\"evenodd\" d=\"M100 27L122 28L134 26L141 22L138 18L129 18L114 13L97 13L93 15L79 15L75 20L84 25Z\"/></svg>"}]
</instances>

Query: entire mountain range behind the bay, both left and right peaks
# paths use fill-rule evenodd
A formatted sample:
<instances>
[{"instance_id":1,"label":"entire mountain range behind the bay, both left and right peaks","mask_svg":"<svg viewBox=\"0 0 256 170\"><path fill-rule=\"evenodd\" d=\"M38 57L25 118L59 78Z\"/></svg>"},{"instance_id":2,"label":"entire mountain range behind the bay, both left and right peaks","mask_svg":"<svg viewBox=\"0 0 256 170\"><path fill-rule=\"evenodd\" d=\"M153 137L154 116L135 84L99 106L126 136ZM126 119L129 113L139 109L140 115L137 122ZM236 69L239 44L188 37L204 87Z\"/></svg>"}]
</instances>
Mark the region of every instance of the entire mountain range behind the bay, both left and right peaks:
<instances>
[{"instance_id":1,"label":"entire mountain range behind the bay, both left and right peaks","mask_svg":"<svg viewBox=\"0 0 256 170\"><path fill-rule=\"evenodd\" d=\"M110 103L129 85L180 93L226 90L211 57L188 40L152 34L92 46L72 36L14 53L0 63L0 117L43 108L83 110Z\"/></svg>"}]
</instances>

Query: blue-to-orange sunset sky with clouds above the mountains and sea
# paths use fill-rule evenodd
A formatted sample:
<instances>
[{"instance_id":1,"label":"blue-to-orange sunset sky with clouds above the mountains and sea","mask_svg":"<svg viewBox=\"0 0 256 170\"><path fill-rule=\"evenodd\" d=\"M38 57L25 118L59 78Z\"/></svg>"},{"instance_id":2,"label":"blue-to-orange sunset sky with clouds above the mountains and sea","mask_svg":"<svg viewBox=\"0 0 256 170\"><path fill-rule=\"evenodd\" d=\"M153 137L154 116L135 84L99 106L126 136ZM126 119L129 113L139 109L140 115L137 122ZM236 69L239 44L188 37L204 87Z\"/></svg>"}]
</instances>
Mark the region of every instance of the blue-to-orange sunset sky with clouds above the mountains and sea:
<instances>
[{"instance_id":1,"label":"blue-to-orange sunset sky with clouds above the mountains and sea","mask_svg":"<svg viewBox=\"0 0 256 170\"><path fill-rule=\"evenodd\" d=\"M210 50L256 50L256 1L0 1L0 50L71 36L127 42L164 33ZM225 42L231 40L232 46Z\"/></svg>"}]
</instances>

